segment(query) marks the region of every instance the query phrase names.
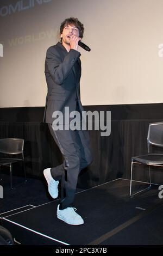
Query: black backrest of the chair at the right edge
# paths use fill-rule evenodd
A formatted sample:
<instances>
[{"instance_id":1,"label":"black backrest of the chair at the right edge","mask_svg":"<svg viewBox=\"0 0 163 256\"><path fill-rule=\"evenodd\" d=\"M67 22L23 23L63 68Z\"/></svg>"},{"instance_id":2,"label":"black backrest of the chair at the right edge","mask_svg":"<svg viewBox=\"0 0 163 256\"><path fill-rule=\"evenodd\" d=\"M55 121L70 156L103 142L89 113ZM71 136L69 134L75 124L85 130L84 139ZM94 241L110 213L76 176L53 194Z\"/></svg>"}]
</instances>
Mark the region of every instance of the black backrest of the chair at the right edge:
<instances>
[{"instance_id":1,"label":"black backrest of the chair at the right edge","mask_svg":"<svg viewBox=\"0 0 163 256\"><path fill-rule=\"evenodd\" d=\"M163 122L149 124L147 144L148 153L150 145L163 147Z\"/></svg>"}]
</instances>

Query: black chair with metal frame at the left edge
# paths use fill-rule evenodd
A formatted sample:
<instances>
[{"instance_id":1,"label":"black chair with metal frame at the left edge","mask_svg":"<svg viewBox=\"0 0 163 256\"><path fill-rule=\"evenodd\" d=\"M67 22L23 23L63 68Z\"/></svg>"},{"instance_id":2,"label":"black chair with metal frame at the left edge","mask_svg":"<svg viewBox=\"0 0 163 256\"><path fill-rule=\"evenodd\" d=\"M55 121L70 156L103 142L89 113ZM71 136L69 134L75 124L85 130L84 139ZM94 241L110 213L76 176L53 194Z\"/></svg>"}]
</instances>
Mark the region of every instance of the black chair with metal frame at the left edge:
<instances>
[{"instance_id":1,"label":"black chair with metal frame at the left edge","mask_svg":"<svg viewBox=\"0 0 163 256\"><path fill-rule=\"evenodd\" d=\"M12 164L16 162L22 162L23 163L23 169L24 169L24 176L25 176L25 182L27 182L26 178L26 167L24 163L24 154L23 154L23 148L24 148L24 139L20 138L5 138L0 139L0 153L7 154L7 155L20 155L22 158L0 158L0 166L7 166L10 167L10 186L12 187Z\"/></svg>"}]
</instances>

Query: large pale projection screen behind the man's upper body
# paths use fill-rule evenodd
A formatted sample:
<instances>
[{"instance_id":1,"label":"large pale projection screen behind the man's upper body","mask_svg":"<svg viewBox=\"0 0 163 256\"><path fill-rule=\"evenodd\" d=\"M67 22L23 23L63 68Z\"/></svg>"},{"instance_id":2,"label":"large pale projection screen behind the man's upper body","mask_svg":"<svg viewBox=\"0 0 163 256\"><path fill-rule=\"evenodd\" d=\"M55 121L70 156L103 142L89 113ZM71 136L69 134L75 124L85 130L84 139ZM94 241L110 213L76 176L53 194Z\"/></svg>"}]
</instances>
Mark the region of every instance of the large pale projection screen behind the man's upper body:
<instances>
[{"instance_id":1,"label":"large pale projection screen behind the man's upper body","mask_svg":"<svg viewBox=\"0 0 163 256\"><path fill-rule=\"evenodd\" d=\"M162 102L162 0L2 0L0 107L45 105L46 50L70 16L91 48L80 48L83 105Z\"/></svg>"}]
</instances>

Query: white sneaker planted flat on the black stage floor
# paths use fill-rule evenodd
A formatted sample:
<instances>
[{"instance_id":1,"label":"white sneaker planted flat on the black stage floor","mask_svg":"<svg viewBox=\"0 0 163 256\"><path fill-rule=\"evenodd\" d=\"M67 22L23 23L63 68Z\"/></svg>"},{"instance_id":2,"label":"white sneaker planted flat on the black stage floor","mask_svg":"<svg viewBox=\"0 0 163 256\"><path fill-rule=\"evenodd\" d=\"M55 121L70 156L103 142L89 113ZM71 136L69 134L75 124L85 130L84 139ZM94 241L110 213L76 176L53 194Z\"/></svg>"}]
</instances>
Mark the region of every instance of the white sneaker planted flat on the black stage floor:
<instances>
[{"instance_id":1,"label":"white sneaker planted flat on the black stage floor","mask_svg":"<svg viewBox=\"0 0 163 256\"><path fill-rule=\"evenodd\" d=\"M64 221L70 225L82 225L84 223L83 218L75 212L76 210L77 209L73 207L67 207L64 210L59 210L59 205L58 205L57 218L59 218L59 220Z\"/></svg>"}]
</instances>

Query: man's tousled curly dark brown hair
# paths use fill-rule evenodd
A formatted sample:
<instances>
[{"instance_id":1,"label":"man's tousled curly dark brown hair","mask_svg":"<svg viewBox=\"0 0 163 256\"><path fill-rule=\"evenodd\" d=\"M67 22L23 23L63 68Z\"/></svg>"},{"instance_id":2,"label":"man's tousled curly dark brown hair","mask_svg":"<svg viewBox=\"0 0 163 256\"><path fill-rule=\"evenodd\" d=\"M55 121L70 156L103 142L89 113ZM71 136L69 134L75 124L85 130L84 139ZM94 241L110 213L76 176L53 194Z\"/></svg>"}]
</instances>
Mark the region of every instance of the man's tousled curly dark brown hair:
<instances>
[{"instance_id":1,"label":"man's tousled curly dark brown hair","mask_svg":"<svg viewBox=\"0 0 163 256\"><path fill-rule=\"evenodd\" d=\"M82 24L82 22L80 22L77 18L71 17L71 18L67 18L66 20L64 20L61 25L60 25L60 34L62 34L64 28L67 25L73 25L76 26L79 29L79 37L83 38L83 34L84 34L84 25ZM62 39L61 39L62 41Z\"/></svg>"}]
</instances>

